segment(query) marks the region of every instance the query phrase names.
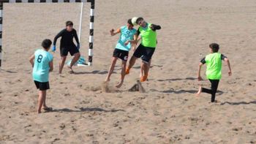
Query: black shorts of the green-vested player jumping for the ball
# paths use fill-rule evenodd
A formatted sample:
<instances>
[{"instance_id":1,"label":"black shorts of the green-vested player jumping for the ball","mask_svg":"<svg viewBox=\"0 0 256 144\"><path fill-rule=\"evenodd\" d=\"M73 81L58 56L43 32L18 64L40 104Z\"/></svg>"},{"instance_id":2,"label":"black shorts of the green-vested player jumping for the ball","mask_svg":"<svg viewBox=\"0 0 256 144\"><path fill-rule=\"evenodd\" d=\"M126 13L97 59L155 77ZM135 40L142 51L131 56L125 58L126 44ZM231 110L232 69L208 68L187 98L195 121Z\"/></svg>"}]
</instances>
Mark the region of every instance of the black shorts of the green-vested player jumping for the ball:
<instances>
[{"instance_id":1,"label":"black shorts of the green-vested player jumping for the ball","mask_svg":"<svg viewBox=\"0 0 256 144\"><path fill-rule=\"evenodd\" d=\"M133 53L133 56L136 58L141 58L143 61L148 63L154 54L154 50L155 48L144 47L140 44L135 50L135 53Z\"/></svg>"}]
</instances>

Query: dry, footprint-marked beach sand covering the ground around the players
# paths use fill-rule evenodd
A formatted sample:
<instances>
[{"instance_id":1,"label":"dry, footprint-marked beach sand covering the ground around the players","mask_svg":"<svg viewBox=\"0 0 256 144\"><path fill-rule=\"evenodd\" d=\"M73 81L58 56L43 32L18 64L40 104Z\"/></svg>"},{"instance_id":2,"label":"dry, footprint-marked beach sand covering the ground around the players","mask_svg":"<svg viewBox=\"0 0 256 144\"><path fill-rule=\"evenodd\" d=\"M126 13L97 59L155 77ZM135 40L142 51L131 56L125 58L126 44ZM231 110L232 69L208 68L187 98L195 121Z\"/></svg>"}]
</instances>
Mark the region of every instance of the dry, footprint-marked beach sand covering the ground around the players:
<instances>
[{"instance_id":1,"label":"dry, footprint-marked beach sand covering the ground around the players","mask_svg":"<svg viewBox=\"0 0 256 144\"><path fill-rule=\"evenodd\" d=\"M47 95L54 110L38 115L29 56L66 20L78 30L79 11L80 4L4 4L0 143L256 143L256 1L96 1L94 66L75 67L76 75L65 68L60 77L58 42ZM81 53L87 57L89 4L83 16ZM117 90L118 61L106 93L102 81L118 39L109 30L134 16L162 26L146 93L128 91L140 60ZM216 104L208 94L194 94L197 65L211 42L219 43L233 69L228 77L223 64Z\"/></svg>"}]
</instances>

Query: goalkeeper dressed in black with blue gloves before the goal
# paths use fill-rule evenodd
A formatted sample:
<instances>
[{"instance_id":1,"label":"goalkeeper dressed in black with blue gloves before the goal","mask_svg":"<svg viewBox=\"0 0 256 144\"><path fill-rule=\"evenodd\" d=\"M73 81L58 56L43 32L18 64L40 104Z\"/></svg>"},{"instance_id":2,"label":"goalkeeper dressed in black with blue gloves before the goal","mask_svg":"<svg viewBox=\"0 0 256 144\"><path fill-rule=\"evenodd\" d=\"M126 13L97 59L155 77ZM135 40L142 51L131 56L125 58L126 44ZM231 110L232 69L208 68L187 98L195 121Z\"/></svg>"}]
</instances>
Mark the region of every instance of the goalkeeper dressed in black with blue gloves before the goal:
<instances>
[{"instance_id":1,"label":"goalkeeper dressed in black with blue gloves before the goal","mask_svg":"<svg viewBox=\"0 0 256 144\"><path fill-rule=\"evenodd\" d=\"M72 66L80 58L80 52L79 52L80 43L79 43L77 31L73 29L72 21L67 21L66 29L63 29L62 31L60 31L59 34L57 34L56 37L54 37L53 48L52 48L53 52L55 52L56 50L56 41L59 37L61 37L61 45L60 45L61 62L59 63L59 74L61 74L62 72L68 53L70 53L71 56L74 56L69 66L70 73L72 73L73 72ZM77 46L75 46L73 42L74 37L75 37L75 41L78 44Z\"/></svg>"}]
</instances>

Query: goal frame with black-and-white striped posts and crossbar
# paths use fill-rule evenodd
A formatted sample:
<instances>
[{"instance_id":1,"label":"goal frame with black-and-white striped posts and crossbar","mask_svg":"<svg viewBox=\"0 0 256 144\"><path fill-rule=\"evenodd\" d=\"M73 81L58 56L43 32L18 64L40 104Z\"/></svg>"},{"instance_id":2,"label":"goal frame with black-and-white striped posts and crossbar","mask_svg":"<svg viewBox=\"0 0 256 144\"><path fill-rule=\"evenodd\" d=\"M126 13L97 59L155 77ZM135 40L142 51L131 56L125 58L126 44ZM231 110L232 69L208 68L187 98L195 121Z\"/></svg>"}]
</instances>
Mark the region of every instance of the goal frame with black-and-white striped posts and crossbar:
<instances>
[{"instance_id":1,"label":"goal frame with black-and-white striped posts and crossbar","mask_svg":"<svg viewBox=\"0 0 256 144\"><path fill-rule=\"evenodd\" d=\"M1 59L2 59L2 23L3 23L3 9L4 3L82 3L88 2L91 4L90 9L90 30L89 30L89 57L88 57L88 65L92 65L92 57L93 57L93 44L94 44L94 7L95 0L0 0L0 69L1 69ZM83 5L81 6L83 8ZM82 11L83 9L81 9ZM81 18L80 18L81 19ZM81 25L81 21L80 21ZM80 30L79 30L79 39L80 39Z\"/></svg>"}]
</instances>

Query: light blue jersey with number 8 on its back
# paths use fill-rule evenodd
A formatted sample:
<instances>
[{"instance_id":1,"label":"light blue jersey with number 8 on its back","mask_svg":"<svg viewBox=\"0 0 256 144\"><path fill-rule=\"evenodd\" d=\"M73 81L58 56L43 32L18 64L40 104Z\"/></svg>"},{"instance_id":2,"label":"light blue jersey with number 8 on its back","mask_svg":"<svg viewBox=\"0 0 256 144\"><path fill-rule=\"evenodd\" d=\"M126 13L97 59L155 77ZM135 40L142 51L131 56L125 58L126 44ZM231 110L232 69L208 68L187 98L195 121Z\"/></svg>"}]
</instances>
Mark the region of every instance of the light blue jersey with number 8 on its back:
<instances>
[{"instance_id":1,"label":"light blue jersey with number 8 on its back","mask_svg":"<svg viewBox=\"0 0 256 144\"><path fill-rule=\"evenodd\" d=\"M39 82L48 82L50 61L53 61L53 55L45 50L36 50L34 52L33 79Z\"/></svg>"}]
</instances>

